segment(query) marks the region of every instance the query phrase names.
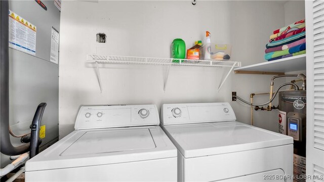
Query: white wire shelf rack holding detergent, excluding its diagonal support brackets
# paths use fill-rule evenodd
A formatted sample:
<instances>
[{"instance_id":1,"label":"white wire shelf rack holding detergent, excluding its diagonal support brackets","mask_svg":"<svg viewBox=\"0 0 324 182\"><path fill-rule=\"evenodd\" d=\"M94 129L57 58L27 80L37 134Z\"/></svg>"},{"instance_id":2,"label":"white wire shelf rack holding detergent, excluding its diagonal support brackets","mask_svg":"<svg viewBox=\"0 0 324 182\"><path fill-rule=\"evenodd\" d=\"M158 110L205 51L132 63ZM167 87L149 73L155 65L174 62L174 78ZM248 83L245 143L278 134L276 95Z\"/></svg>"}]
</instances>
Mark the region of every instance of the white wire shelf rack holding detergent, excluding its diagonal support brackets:
<instances>
[{"instance_id":1,"label":"white wire shelf rack holding detergent, excluding its diagonal support brackets","mask_svg":"<svg viewBox=\"0 0 324 182\"><path fill-rule=\"evenodd\" d=\"M211 67L240 67L240 62L214 60L188 60L173 58L147 58L134 56L87 55L88 62L114 64L147 64L147 65L179 65L179 66L211 66Z\"/></svg>"}]
</instances>

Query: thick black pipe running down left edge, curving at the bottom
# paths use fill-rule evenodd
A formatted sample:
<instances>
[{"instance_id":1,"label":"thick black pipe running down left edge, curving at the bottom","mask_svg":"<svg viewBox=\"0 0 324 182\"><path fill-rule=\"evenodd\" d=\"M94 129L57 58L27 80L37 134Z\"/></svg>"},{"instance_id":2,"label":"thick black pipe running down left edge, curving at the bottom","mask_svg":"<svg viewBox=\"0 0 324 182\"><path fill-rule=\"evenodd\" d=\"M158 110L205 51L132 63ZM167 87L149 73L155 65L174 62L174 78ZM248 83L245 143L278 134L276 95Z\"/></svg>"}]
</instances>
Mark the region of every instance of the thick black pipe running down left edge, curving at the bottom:
<instances>
[{"instance_id":1,"label":"thick black pipe running down left edge, curving at the bottom","mask_svg":"<svg viewBox=\"0 0 324 182\"><path fill-rule=\"evenodd\" d=\"M29 144L14 147L9 135L9 2L0 1L0 122L1 122L1 153L20 155L29 150Z\"/></svg>"}]
</instances>

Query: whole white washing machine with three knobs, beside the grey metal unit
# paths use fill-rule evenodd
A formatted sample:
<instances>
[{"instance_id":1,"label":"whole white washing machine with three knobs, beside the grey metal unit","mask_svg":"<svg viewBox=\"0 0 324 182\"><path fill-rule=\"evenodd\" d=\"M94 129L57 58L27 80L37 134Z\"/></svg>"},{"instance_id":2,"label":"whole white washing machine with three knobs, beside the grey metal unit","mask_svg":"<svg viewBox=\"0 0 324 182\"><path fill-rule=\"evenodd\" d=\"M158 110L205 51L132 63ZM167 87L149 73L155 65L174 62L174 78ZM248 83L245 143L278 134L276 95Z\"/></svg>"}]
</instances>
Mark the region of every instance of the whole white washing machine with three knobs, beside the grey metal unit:
<instances>
[{"instance_id":1,"label":"whole white washing machine with three knobs, beside the grey metal unit","mask_svg":"<svg viewBox=\"0 0 324 182\"><path fill-rule=\"evenodd\" d=\"M175 181L177 149L158 124L155 105L83 106L73 132L27 161L25 179Z\"/></svg>"}]
</instances>

